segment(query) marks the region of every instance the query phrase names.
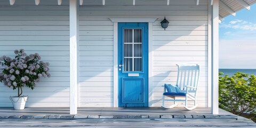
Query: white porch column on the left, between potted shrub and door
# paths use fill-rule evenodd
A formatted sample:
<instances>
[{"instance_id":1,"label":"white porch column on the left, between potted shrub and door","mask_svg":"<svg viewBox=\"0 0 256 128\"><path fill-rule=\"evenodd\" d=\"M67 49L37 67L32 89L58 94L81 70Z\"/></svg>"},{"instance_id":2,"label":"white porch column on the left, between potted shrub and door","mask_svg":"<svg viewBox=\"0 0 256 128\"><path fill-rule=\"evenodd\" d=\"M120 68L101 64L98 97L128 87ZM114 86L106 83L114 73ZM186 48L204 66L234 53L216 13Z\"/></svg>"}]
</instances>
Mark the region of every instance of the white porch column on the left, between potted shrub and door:
<instances>
[{"instance_id":1,"label":"white porch column on the left, between potted shrub and door","mask_svg":"<svg viewBox=\"0 0 256 128\"><path fill-rule=\"evenodd\" d=\"M77 0L69 0L70 114L77 114Z\"/></svg>"}]
</instances>

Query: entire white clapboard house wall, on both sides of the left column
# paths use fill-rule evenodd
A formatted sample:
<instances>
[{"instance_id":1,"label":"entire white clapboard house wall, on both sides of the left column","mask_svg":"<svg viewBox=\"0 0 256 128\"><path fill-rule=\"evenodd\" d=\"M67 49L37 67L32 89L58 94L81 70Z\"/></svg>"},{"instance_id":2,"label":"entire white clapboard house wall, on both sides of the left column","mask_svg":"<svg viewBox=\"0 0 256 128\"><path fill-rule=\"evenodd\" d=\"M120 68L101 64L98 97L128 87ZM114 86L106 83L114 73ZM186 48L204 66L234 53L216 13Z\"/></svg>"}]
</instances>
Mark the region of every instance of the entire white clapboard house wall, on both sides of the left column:
<instances>
[{"instance_id":1,"label":"entire white clapboard house wall, on both sides of the left column","mask_svg":"<svg viewBox=\"0 0 256 128\"><path fill-rule=\"evenodd\" d=\"M55 2L55 3L54 3ZM0 56L15 49L39 53L50 62L51 78L42 78L29 95L27 107L69 107L69 6L68 1L20 0L10 6L0 0ZM199 106L207 106L207 20L208 5L195 1L122 1L126 5L98 5L84 1L79 6L78 81L79 107L113 107L113 22L108 18L159 18L153 23L153 104L162 104L161 87L175 83L177 63L201 65ZM48 4L50 3L50 4ZM95 4L95 5L92 5ZM130 4L130 5L127 5ZM150 5L151 4L151 5ZM90 6L89 6L90 5ZM160 23L170 21L164 31ZM11 107L10 95L17 91L0 83L0 107Z\"/></svg>"}]
</instances>

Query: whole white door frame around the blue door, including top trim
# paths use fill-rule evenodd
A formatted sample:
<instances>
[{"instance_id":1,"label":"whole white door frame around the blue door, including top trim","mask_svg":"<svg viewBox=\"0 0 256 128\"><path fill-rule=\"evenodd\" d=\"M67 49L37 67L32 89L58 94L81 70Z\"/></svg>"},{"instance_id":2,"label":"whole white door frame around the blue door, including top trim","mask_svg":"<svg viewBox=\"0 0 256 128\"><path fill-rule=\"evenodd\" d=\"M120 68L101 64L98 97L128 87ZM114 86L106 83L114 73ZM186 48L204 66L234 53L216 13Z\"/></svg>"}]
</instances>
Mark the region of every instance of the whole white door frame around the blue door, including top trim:
<instances>
[{"instance_id":1,"label":"whole white door frame around the blue door, including top trim","mask_svg":"<svg viewBox=\"0 0 256 128\"><path fill-rule=\"evenodd\" d=\"M158 18L109 18L114 22L113 107L118 107L118 22L148 22L148 106L153 107L153 22Z\"/></svg>"}]
</instances>

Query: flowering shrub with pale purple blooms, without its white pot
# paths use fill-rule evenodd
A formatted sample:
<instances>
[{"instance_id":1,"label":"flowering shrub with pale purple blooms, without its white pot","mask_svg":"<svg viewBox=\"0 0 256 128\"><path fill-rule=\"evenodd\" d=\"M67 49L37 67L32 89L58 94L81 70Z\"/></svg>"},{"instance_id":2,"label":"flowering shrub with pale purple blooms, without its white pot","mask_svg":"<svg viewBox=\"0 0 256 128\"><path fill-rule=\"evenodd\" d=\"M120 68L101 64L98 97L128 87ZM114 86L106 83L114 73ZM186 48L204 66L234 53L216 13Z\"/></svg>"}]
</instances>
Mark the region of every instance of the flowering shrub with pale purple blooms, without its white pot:
<instances>
[{"instance_id":1,"label":"flowering shrub with pale purple blooms, without its white pot","mask_svg":"<svg viewBox=\"0 0 256 128\"><path fill-rule=\"evenodd\" d=\"M0 58L0 82L15 90L18 89L18 97L22 94L22 88L27 86L34 89L40 77L51 77L49 62L39 61L38 53L27 55L25 50L15 50L15 59ZM2 66L2 68L1 68Z\"/></svg>"}]
</instances>

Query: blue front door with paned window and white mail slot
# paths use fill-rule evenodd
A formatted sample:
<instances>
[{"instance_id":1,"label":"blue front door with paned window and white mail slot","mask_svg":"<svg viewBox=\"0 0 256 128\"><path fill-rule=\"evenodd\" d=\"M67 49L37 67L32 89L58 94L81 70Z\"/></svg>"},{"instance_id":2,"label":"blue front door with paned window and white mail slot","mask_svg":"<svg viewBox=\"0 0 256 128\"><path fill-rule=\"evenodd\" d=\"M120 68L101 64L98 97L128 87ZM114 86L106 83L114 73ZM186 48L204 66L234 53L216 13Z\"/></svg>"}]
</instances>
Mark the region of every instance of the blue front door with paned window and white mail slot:
<instances>
[{"instance_id":1,"label":"blue front door with paned window and white mail slot","mask_svg":"<svg viewBox=\"0 0 256 128\"><path fill-rule=\"evenodd\" d=\"M118 23L118 107L148 107L148 23Z\"/></svg>"}]
</instances>

